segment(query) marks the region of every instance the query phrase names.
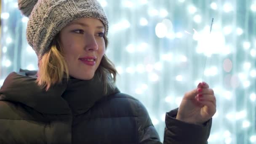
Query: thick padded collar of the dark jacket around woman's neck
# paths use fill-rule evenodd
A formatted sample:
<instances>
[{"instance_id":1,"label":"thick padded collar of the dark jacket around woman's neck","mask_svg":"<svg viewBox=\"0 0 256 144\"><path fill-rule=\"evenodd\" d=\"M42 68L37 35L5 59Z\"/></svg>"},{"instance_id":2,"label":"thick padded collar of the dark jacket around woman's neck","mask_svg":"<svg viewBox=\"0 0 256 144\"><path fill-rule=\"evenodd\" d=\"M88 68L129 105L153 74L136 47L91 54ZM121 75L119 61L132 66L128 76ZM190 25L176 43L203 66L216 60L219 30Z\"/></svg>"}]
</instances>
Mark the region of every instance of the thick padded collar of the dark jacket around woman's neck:
<instances>
[{"instance_id":1,"label":"thick padded collar of the dark jacket around woman's neck","mask_svg":"<svg viewBox=\"0 0 256 144\"><path fill-rule=\"evenodd\" d=\"M91 80L63 80L48 91L41 89L35 81L36 75L12 72L0 89L0 100L22 103L43 114L72 112L73 115L79 115L87 112L101 98L120 92L115 88L108 89L108 93L104 94L103 83L96 75Z\"/></svg>"}]
</instances>

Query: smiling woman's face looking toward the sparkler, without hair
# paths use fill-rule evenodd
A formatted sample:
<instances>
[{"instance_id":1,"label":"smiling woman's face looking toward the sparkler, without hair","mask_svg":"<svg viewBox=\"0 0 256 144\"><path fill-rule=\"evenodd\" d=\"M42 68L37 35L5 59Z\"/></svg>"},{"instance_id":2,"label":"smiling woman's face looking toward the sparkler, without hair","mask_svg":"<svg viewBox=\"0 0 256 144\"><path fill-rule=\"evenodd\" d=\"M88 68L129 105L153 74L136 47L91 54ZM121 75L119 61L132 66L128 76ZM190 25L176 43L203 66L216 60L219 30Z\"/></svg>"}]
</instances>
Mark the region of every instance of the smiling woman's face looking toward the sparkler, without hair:
<instances>
[{"instance_id":1,"label":"smiling woman's face looking toward the sparkler, without hair","mask_svg":"<svg viewBox=\"0 0 256 144\"><path fill-rule=\"evenodd\" d=\"M82 18L61 29L60 46L69 75L80 80L93 78L105 53L104 25L99 19Z\"/></svg>"}]
</instances>

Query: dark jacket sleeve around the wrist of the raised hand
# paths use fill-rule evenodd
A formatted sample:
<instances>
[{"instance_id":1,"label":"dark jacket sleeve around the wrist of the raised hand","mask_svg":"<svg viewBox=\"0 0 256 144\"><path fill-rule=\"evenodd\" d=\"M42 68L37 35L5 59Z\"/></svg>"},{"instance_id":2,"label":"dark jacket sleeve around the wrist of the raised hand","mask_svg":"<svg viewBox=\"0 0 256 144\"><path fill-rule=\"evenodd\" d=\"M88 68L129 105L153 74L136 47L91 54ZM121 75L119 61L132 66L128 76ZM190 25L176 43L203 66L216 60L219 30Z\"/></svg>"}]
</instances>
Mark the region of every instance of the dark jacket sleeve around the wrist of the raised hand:
<instances>
[{"instance_id":1,"label":"dark jacket sleeve around the wrist of the raised hand","mask_svg":"<svg viewBox=\"0 0 256 144\"><path fill-rule=\"evenodd\" d=\"M176 120L177 109L165 116L164 144L208 144L212 119L203 125L195 125Z\"/></svg>"}]
</instances>

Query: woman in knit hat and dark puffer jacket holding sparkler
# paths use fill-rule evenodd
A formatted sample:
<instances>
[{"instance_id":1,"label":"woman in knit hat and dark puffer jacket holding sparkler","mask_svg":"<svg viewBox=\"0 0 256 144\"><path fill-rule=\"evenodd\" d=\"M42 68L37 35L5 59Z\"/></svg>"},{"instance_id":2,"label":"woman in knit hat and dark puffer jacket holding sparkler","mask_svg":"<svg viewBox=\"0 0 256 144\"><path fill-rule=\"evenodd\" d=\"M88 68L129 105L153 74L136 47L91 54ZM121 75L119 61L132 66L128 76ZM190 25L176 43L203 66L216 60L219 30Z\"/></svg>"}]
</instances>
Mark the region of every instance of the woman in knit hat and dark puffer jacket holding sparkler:
<instances>
[{"instance_id":1,"label":"woman in knit hat and dark puffer jacket holding sparkler","mask_svg":"<svg viewBox=\"0 0 256 144\"><path fill-rule=\"evenodd\" d=\"M38 72L0 89L1 144L161 144L147 110L115 87L107 17L96 0L19 0ZM208 84L166 113L164 144L206 144L216 100Z\"/></svg>"}]
</instances>

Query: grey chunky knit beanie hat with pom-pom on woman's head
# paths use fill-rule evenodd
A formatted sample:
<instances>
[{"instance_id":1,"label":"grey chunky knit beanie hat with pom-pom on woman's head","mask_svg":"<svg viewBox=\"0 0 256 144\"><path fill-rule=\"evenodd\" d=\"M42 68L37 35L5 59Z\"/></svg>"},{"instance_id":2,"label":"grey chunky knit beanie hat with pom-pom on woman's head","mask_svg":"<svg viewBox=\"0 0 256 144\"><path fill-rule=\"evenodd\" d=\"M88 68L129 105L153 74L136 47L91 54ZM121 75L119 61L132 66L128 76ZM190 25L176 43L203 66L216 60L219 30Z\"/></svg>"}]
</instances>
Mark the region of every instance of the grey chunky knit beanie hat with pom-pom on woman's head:
<instances>
[{"instance_id":1,"label":"grey chunky knit beanie hat with pom-pom on woman's head","mask_svg":"<svg viewBox=\"0 0 256 144\"><path fill-rule=\"evenodd\" d=\"M51 49L53 38L71 21L88 17L102 21L105 35L108 20L97 0L18 0L21 13L29 17L27 41L40 59Z\"/></svg>"}]
</instances>

